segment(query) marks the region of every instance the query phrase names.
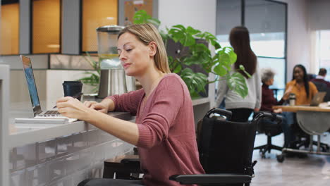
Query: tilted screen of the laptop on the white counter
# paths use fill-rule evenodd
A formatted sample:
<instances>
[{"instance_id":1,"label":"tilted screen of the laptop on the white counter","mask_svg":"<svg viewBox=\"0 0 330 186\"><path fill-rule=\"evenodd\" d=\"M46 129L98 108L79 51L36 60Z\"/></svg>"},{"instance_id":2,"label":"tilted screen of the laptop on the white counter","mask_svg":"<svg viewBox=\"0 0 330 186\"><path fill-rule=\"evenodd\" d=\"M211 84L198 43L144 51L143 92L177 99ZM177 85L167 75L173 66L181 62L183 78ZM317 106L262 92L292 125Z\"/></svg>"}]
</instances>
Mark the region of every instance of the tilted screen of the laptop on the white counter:
<instances>
[{"instance_id":1,"label":"tilted screen of the laptop on the white counter","mask_svg":"<svg viewBox=\"0 0 330 186\"><path fill-rule=\"evenodd\" d=\"M40 102L39 102L37 87L35 85L35 76L33 75L32 63L30 58L26 56L21 55L20 58L22 58L22 62L23 62L23 70L26 77L27 89L29 90L31 104L33 110L35 111L36 108L38 109L40 108Z\"/></svg>"}]
</instances>

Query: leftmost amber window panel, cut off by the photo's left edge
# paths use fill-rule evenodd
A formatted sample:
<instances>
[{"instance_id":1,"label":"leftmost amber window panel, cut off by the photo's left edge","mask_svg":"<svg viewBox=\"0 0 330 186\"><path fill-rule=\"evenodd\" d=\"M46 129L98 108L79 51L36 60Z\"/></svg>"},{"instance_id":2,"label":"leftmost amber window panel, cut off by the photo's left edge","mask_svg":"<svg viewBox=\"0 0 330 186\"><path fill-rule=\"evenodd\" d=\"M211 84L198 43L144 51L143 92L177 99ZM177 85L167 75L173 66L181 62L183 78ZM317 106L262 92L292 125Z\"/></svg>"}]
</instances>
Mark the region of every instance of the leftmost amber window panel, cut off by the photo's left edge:
<instances>
[{"instance_id":1,"label":"leftmost amber window panel, cut off by the photo's left edge","mask_svg":"<svg viewBox=\"0 0 330 186\"><path fill-rule=\"evenodd\" d=\"M1 1L1 55L18 54L18 1Z\"/></svg>"}]
</instances>

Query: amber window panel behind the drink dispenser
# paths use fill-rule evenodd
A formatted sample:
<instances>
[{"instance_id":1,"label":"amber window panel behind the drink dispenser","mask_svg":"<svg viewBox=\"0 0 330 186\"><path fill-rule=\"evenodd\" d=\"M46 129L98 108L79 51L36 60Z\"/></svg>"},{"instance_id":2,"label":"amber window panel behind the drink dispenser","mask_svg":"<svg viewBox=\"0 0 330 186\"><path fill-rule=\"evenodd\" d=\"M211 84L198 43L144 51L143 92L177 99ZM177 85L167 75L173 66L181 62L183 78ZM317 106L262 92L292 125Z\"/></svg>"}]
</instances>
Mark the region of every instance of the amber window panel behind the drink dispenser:
<instances>
[{"instance_id":1,"label":"amber window panel behind the drink dispenser","mask_svg":"<svg viewBox=\"0 0 330 186\"><path fill-rule=\"evenodd\" d=\"M117 0L82 0L82 51L97 51L97 27L118 25Z\"/></svg>"}]
</instances>

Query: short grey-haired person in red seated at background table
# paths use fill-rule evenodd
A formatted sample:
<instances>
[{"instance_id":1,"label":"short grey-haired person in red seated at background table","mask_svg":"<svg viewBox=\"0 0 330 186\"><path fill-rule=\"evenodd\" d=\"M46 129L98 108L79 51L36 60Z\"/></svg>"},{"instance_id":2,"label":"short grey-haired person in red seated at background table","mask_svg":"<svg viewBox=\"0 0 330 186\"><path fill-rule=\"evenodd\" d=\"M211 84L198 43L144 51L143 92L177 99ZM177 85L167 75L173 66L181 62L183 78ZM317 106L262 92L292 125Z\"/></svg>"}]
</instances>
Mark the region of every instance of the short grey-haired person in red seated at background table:
<instances>
[{"instance_id":1,"label":"short grey-haired person in red seated at background table","mask_svg":"<svg viewBox=\"0 0 330 186\"><path fill-rule=\"evenodd\" d=\"M260 111L267 111L267 112L274 112L274 113L282 113L282 109L272 109L272 106L275 105L281 105L286 100L288 100L288 97L291 93L291 87L289 87L286 92L284 92L284 95L280 101L277 101L274 97L273 90L269 89L269 86L273 85L274 83L274 70L271 68L263 68L261 73L261 80L262 80L262 105L260 107ZM263 122L268 124L274 124L276 125L276 122L272 122L269 119L263 119ZM288 134L289 130L286 127L286 120L282 121L282 130L284 133L284 147L288 147Z\"/></svg>"}]
</instances>

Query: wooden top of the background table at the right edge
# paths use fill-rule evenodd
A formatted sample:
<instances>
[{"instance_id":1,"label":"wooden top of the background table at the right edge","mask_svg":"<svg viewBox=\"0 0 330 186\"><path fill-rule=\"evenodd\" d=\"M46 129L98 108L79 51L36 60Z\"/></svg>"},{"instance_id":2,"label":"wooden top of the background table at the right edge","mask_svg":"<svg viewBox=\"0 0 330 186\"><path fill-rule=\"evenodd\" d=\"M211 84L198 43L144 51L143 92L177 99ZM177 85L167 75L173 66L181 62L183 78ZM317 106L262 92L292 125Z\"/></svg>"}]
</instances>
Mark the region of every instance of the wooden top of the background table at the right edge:
<instances>
[{"instance_id":1,"label":"wooden top of the background table at the right edge","mask_svg":"<svg viewBox=\"0 0 330 186\"><path fill-rule=\"evenodd\" d=\"M288 106L288 105L276 105L273 109L282 109L284 112L297 112L297 111L318 111L318 112L330 112L330 106L327 103L319 104L319 106Z\"/></svg>"}]
</instances>

